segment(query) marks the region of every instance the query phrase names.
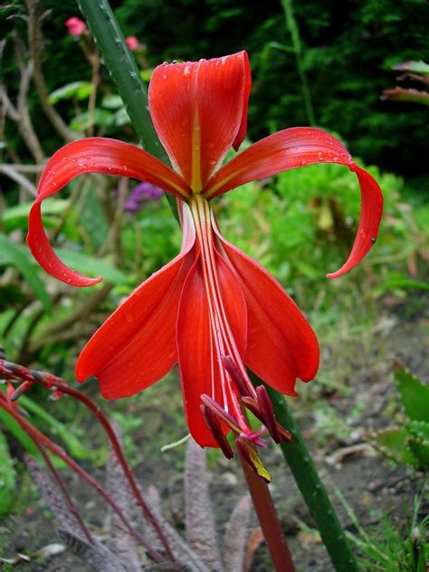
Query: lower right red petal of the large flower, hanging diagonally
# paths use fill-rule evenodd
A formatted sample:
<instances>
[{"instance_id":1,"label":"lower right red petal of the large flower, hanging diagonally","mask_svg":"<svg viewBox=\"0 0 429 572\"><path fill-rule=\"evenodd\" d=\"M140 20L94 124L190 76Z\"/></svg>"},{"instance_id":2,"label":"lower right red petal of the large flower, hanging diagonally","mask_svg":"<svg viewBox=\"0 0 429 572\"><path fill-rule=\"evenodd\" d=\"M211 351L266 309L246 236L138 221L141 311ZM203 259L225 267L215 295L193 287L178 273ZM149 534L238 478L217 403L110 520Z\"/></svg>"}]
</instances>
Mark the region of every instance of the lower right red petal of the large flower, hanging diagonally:
<instances>
[{"instance_id":1,"label":"lower right red petal of the large flower, hanging diagonally","mask_svg":"<svg viewBox=\"0 0 429 572\"><path fill-rule=\"evenodd\" d=\"M237 272L247 306L244 363L277 391L296 396L295 382L310 381L319 367L319 344L300 309L260 264L228 243L215 228Z\"/></svg>"}]
</instances>

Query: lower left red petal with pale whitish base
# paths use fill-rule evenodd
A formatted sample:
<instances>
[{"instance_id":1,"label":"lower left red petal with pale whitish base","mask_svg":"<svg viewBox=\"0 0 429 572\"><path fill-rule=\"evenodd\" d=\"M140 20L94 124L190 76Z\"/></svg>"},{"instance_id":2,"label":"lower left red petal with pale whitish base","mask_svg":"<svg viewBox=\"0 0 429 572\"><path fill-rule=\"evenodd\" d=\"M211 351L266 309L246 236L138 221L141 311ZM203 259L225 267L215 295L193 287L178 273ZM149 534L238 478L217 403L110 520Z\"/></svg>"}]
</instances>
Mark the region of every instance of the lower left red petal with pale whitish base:
<instances>
[{"instance_id":1,"label":"lower left red petal with pale whitish base","mask_svg":"<svg viewBox=\"0 0 429 572\"><path fill-rule=\"evenodd\" d=\"M189 216L183 230L181 253L143 282L81 352L77 379L97 377L104 397L132 396L164 377L177 361L178 304L194 260L195 227Z\"/></svg>"}]
</instances>

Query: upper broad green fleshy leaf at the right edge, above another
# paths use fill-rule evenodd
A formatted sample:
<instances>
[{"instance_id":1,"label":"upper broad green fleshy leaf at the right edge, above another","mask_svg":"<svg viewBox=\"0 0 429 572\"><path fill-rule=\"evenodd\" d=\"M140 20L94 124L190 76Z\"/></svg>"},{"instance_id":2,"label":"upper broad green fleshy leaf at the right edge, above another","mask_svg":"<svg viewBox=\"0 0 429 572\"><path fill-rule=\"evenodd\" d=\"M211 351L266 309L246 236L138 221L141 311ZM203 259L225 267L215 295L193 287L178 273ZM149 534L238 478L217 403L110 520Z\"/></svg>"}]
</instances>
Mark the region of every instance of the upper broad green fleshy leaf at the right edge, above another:
<instances>
[{"instance_id":1,"label":"upper broad green fleshy leaf at the right edge, above another","mask_svg":"<svg viewBox=\"0 0 429 572\"><path fill-rule=\"evenodd\" d=\"M396 366L395 380L405 414L415 421L429 421L429 386L401 365Z\"/></svg>"}]
</instances>

